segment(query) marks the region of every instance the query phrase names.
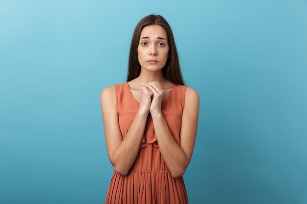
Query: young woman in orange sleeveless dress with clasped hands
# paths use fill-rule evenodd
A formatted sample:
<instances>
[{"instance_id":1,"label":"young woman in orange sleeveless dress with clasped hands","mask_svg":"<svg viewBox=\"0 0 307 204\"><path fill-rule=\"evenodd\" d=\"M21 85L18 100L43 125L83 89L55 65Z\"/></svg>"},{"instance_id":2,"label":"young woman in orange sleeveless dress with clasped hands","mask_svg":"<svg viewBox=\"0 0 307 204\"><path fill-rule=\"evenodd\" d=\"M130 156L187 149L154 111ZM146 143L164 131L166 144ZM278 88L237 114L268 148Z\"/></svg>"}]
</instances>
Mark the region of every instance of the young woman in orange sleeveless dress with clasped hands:
<instances>
[{"instance_id":1,"label":"young woman in orange sleeveless dress with clasped hands","mask_svg":"<svg viewBox=\"0 0 307 204\"><path fill-rule=\"evenodd\" d=\"M127 82L105 88L101 106L115 170L105 204L187 204L182 175L194 149L199 95L184 85L163 17L136 25Z\"/></svg>"}]
</instances>

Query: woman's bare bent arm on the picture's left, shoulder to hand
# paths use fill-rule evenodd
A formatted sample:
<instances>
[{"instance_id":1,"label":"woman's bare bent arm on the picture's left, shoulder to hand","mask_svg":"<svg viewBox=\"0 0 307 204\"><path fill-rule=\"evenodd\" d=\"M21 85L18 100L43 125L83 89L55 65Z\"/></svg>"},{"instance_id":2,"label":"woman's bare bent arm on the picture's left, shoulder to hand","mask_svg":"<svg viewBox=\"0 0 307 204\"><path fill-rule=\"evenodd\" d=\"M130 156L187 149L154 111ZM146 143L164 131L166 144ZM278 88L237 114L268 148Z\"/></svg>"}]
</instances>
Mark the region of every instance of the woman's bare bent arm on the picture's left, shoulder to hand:
<instances>
[{"instance_id":1,"label":"woman's bare bent arm on the picture's left, shoulder to hand","mask_svg":"<svg viewBox=\"0 0 307 204\"><path fill-rule=\"evenodd\" d=\"M118 123L115 86L107 87L101 93L102 117L108 156L114 170L122 175L128 173L136 159L144 135L149 106L144 100L146 93L142 92L142 94L143 98L141 99L143 101L141 101L140 108L125 139L123 139ZM149 96L149 100L151 100L151 96ZM148 106L147 109L146 105Z\"/></svg>"}]
</instances>

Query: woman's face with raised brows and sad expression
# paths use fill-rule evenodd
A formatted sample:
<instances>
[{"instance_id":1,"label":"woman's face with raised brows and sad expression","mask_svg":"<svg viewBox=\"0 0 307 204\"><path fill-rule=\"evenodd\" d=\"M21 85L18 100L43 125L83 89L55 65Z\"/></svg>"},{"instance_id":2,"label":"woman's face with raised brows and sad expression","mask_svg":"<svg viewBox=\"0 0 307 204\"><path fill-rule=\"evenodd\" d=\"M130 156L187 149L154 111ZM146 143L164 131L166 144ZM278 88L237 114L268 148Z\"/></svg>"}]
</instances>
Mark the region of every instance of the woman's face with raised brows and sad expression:
<instances>
[{"instance_id":1,"label":"woman's face with raised brows and sad expression","mask_svg":"<svg viewBox=\"0 0 307 204\"><path fill-rule=\"evenodd\" d=\"M161 70L169 56L167 34L160 25L149 25L143 28L137 47L137 57L141 69Z\"/></svg>"}]
</instances>

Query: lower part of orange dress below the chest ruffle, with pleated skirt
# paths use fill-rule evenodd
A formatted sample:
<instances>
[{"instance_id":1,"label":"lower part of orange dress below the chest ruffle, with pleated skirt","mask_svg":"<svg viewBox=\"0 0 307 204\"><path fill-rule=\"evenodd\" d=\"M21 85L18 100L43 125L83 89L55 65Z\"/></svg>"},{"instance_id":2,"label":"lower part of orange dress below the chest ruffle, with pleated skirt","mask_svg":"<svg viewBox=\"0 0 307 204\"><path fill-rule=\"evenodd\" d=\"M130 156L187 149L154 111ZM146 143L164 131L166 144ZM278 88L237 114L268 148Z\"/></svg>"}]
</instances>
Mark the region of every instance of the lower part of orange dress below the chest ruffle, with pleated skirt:
<instances>
[{"instance_id":1,"label":"lower part of orange dress below the chest ruffle, with pleated skirt","mask_svg":"<svg viewBox=\"0 0 307 204\"><path fill-rule=\"evenodd\" d=\"M113 173L105 204L188 204L183 177L173 178L158 147L140 148L127 175Z\"/></svg>"}]
</instances>

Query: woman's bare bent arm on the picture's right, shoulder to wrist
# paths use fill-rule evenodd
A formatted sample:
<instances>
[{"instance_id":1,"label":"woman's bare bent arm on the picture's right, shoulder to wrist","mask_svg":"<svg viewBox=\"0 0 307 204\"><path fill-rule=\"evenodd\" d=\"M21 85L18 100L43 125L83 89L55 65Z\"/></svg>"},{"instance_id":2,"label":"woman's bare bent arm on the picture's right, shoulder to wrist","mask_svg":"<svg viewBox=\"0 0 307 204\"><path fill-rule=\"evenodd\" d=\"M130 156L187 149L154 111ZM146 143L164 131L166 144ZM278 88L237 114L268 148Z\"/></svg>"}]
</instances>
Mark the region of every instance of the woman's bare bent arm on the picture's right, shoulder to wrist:
<instances>
[{"instance_id":1,"label":"woman's bare bent arm on the picture's right, shoulder to wrist","mask_svg":"<svg viewBox=\"0 0 307 204\"><path fill-rule=\"evenodd\" d=\"M156 90L153 90L153 94L158 94L159 92L154 91ZM154 131L164 162L173 177L182 176L190 163L195 145L199 115L199 95L195 90L187 87L181 118L180 146L172 136L161 113L161 109L153 107L152 110L151 107L151 114Z\"/></svg>"}]
</instances>

